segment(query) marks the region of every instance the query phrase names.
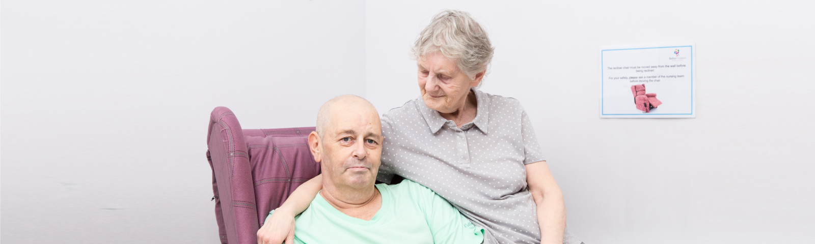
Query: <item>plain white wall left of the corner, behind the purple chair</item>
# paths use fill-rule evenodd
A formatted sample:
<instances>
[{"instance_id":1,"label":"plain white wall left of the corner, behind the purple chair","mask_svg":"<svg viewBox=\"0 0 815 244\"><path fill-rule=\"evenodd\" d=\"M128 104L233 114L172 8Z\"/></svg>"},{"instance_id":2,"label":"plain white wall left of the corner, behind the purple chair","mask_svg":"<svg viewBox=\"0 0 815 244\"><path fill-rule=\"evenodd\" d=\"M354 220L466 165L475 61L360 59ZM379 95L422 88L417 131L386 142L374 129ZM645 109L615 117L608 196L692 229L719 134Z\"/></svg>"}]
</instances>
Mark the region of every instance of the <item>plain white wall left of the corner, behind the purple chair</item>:
<instances>
[{"instance_id":1,"label":"plain white wall left of the corner, behind the purple chair","mask_svg":"<svg viewBox=\"0 0 815 244\"><path fill-rule=\"evenodd\" d=\"M364 96L364 17L363 1L3 1L2 242L218 243L209 112L313 126L329 98Z\"/></svg>"}]
</instances>

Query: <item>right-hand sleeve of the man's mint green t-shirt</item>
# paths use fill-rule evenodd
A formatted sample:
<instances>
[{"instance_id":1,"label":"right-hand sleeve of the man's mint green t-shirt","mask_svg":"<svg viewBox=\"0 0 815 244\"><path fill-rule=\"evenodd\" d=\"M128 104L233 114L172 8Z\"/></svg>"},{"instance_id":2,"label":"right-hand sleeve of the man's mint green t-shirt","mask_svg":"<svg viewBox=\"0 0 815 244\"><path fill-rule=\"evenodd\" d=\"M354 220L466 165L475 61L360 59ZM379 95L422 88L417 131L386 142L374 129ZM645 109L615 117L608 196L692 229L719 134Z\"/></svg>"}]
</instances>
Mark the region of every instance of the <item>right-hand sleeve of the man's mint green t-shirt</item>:
<instances>
[{"instance_id":1,"label":"right-hand sleeve of the man's mint green t-shirt","mask_svg":"<svg viewBox=\"0 0 815 244\"><path fill-rule=\"evenodd\" d=\"M434 243L482 243L484 229L476 226L444 198L419 183L405 180L425 213Z\"/></svg>"}]
</instances>

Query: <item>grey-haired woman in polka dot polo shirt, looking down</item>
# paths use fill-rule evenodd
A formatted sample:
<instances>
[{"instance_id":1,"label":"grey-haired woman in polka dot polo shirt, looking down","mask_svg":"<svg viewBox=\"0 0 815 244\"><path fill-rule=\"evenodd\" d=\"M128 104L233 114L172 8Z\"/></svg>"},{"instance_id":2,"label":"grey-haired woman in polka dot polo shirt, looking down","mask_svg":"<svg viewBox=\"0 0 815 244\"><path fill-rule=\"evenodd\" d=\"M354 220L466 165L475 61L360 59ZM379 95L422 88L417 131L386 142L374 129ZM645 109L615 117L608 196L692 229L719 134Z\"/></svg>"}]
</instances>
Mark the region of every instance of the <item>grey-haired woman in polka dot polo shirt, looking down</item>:
<instances>
[{"instance_id":1,"label":"grey-haired woman in polka dot polo shirt, looking down","mask_svg":"<svg viewBox=\"0 0 815 244\"><path fill-rule=\"evenodd\" d=\"M566 229L563 195L520 102L478 90L492 59L487 33L463 11L443 11L412 47L421 98L382 116L377 180L416 181L487 230L484 243L581 243ZM293 235L293 216L319 191L298 188L258 231Z\"/></svg>"}]
</instances>

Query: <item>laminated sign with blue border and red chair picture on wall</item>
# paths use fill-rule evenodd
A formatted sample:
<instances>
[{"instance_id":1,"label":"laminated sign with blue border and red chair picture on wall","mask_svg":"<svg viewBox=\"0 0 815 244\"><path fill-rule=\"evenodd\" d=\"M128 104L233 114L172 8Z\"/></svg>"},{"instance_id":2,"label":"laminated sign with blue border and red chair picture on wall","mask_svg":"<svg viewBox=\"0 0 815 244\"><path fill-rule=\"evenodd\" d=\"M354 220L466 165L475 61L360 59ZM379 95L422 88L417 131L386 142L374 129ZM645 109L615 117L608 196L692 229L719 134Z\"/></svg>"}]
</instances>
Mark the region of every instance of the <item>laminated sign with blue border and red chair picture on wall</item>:
<instances>
[{"instance_id":1,"label":"laminated sign with blue border and red chair picture on wall","mask_svg":"<svg viewBox=\"0 0 815 244\"><path fill-rule=\"evenodd\" d=\"M695 118L694 43L600 49L601 118Z\"/></svg>"}]
</instances>

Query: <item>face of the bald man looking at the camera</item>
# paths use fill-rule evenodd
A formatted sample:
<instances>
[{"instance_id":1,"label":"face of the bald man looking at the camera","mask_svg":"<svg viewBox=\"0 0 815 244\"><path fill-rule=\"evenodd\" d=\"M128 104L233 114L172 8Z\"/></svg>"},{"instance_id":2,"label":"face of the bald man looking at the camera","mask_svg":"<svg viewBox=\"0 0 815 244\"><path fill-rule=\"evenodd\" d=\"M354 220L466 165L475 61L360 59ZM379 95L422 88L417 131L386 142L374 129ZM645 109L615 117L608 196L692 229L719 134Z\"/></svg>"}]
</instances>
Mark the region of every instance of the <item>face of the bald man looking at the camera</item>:
<instances>
[{"instance_id":1,"label":"face of the bald man looking at the camera","mask_svg":"<svg viewBox=\"0 0 815 244\"><path fill-rule=\"evenodd\" d=\"M378 113L367 107L338 104L323 133L315 159L321 161L324 181L332 181L337 188L374 185L382 154Z\"/></svg>"}]
</instances>

